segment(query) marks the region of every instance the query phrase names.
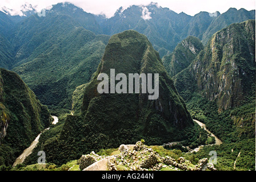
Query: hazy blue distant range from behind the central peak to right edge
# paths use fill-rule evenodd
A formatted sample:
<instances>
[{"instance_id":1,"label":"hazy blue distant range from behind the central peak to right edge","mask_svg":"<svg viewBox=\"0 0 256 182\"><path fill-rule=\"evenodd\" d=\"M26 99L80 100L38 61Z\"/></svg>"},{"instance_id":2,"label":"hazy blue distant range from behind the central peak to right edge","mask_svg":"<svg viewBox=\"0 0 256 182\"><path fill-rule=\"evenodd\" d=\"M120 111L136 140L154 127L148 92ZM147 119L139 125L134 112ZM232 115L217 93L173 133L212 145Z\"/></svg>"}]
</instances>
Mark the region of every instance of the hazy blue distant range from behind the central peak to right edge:
<instances>
[{"instance_id":1,"label":"hazy blue distant range from behind the central peak to right edge","mask_svg":"<svg viewBox=\"0 0 256 182\"><path fill-rule=\"evenodd\" d=\"M187 36L195 36L206 44L211 36L229 26L245 20L255 19L255 10L230 9L226 13L211 15L200 12L194 16L150 3L147 6L120 7L109 19L97 16L103 34L113 35L125 30L136 30L147 36L161 57L172 52Z\"/></svg>"}]
</instances>

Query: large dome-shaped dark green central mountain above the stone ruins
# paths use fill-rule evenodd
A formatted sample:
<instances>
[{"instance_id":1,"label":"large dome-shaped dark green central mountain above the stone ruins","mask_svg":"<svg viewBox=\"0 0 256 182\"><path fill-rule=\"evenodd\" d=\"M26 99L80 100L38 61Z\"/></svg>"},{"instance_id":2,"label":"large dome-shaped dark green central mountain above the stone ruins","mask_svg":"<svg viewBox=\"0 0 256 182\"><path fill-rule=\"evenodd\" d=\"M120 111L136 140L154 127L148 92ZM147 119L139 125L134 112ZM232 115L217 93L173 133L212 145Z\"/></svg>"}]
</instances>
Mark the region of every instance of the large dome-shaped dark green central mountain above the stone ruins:
<instances>
[{"instance_id":1,"label":"large dome-shaped dark green central mountain above the stone ruins","mask_svg":"<svg viewBox=\"0 0 256 182\"><path fill-rule=\"evenodd\" d=\"M147 93L99 94L99 73L159 73L159 98ZM45 138L42 148L47 160L63 164L87 151L118 147L144 138L149 144L189 139L194 123L158 52L145 35L124 31L111 36L92 80L73 95L73 113L67 115L59 137ZM195 135L194 139L197 139ZM55 148L53 150L52 148ZM65 152L65 158L63 158Z\"/></svg>"}]
</instances>

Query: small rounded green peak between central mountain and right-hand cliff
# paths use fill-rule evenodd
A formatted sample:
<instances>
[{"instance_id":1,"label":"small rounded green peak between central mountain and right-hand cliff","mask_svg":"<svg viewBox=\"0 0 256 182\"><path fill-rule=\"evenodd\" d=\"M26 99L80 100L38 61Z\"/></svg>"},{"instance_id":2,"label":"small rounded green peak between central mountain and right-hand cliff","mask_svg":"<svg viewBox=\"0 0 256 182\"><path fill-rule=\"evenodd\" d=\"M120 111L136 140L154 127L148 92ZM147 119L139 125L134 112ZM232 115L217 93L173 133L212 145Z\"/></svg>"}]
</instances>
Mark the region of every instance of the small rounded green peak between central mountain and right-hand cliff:
<instances>
[{"instance_id":1,"label":"small rounded green peak between central mountain and right-hand cliff","mask_svg":"<svg viewBox=\"0 0 256 182\"><path fill-rule=\"evenodd\" d=\"M177 75L190 65L202 49L203 44L198 38L189 36L182 40L170 55L163 57L166 71L171 77Z\"/></svg>"}]
</instances>

